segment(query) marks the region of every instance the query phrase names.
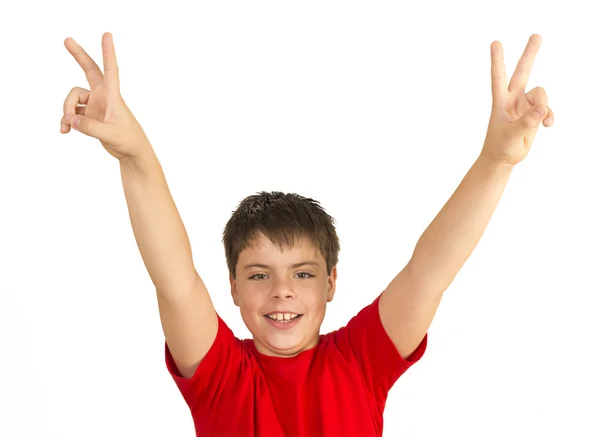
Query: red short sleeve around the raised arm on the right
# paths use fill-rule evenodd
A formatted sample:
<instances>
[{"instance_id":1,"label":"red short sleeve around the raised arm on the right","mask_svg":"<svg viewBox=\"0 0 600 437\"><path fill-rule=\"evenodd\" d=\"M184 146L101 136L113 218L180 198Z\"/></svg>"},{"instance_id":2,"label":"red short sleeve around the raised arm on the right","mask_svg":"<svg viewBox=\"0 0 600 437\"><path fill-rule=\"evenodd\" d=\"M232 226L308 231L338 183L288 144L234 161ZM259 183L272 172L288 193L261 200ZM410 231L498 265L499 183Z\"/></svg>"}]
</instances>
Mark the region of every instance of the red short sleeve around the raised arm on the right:
<instances>
[{"instance_id":1,"label":"red short sleeve around the raised arm on the right","mask_svg":"<svg viewBox=\"0 0 600 437\"><path fill-rule=\"evenodd\" d=\"M365 384L379 399L387 397L398 378L421 359L427 348L425 334L411 356L402 358L381 322L380 297L363 308L344 329Z\"/></svg>"}]
</instances>

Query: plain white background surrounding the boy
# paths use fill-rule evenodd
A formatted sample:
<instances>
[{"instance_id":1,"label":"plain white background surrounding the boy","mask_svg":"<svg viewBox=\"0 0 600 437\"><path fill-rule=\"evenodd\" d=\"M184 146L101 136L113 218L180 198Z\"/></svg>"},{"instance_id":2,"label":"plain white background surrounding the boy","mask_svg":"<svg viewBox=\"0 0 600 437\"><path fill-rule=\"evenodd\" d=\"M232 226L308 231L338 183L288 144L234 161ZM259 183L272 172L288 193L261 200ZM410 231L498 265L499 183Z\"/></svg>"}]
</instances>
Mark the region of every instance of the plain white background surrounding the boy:
<instances>
[{"instance_id":1,"label":"plain white background surrounding the boy","mask_svg":"<svg viewBox=\"0 0 600 437\"><path fill-rule=\"evenodd\" d=\"M192 436L164 365L118 162L59 132L114 35L122 93L163 164L221 316L221 232L259 190L321 201L342 242L323 332L408 261L483 144L489 46L555 125L515 169L392 389L385 436L600 436L600 30L585 1L12 2L0 20L0 435ZM192 6L193 5L193 6Z\"/></svg>"}]
</instances>

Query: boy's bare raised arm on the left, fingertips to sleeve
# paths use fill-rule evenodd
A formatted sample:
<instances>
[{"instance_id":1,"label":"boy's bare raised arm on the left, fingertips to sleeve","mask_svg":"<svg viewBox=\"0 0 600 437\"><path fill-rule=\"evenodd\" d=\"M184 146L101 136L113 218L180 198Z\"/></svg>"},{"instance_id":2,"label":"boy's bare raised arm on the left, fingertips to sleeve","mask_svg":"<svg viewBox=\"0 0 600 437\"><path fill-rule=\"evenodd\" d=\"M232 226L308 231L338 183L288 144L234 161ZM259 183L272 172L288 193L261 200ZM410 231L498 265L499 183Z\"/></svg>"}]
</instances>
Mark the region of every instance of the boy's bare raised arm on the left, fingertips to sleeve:
<instances>
[{"instance_id":1,"label":"boy's bare raised arm on the left, fingertips to sleeve","mask_svg":"<svg viewBox=\"0 0 600 437\"><path fill-rule=\"evenodd\" d=\"M120 94L112 35L102 37L104 73L71 38L65 47L83 68L90 90L73 88L61 132L100 140L120 163L123 189L140 254L156 287L167 345L179 371L191 377L217 333L217 315L194 268L183 222L152 146Z\"/></svg>"}]
</instances>

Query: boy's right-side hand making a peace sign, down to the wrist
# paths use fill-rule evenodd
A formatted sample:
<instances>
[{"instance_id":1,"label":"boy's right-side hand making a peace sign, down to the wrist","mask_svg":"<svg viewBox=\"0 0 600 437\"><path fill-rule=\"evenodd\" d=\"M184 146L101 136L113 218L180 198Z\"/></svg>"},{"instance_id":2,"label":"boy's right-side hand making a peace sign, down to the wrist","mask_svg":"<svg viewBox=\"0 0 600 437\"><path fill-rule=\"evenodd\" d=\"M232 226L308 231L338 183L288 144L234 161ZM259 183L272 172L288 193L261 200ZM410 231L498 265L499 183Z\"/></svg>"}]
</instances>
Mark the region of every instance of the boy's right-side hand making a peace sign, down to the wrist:
<instances>
[{"instance_id":1,"label":"boy's right-side hand making a peace sign, down to the wrist","mask_svg":"<svg viewBox=\"0 0 600 437\"><path fill-rule=\"evenodd\" d=\"M491 45L493 104L482 154L494 162L519 163L529 153L540 122L546 127L554 123L546 91L536 87L525 93L541 43L539 35L529 38L510 83L506 79L502 44L494 41Z\"/></svg>"}]
</instances>

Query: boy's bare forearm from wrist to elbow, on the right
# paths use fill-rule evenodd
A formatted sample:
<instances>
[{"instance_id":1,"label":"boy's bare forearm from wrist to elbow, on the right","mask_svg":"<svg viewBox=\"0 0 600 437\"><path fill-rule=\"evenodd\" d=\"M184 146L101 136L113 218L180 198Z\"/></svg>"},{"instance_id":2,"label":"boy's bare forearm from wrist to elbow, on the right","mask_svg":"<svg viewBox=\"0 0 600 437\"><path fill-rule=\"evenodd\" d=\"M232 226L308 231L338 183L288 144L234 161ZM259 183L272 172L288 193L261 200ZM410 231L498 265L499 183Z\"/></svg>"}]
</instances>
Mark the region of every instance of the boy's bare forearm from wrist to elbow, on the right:
<instances>
[{"instance_id":1,"label":"boy's bare forearm from wrist to elbow, on the right","mask_svg":"<svg viewBox=\"0 0 600 437\"><path fill-rule=\"evenodd\" d=\"M443 292L481 239L510 175L512 165L479 157L425 230L409 262L413 282Z\"/></svg>"}]
</instances>

